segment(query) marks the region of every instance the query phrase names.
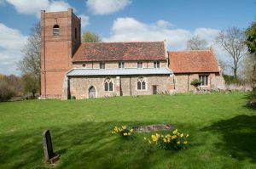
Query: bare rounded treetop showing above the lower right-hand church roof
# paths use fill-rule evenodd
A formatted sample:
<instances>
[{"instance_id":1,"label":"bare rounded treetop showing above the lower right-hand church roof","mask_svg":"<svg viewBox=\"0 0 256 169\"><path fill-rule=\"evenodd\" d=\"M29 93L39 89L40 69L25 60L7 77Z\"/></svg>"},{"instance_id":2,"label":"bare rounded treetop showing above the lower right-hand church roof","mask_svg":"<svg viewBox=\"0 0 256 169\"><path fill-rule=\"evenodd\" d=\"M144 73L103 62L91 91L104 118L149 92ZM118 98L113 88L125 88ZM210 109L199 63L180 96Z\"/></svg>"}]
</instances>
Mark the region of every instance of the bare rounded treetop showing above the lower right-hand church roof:
<instances>
[{"instance_id":1,"label":"bare rounded treetop showing above the lower right-hand church roof","mask_svg":"<svg viewBox=\"0 0 256 169\"><path fill-rule=\"evenodd\" d=\"M191 37L187 42L188 50L205 50L207 49L207 41L205 39L201 39L198 35Z\"/></svg>"}]
</instances>

